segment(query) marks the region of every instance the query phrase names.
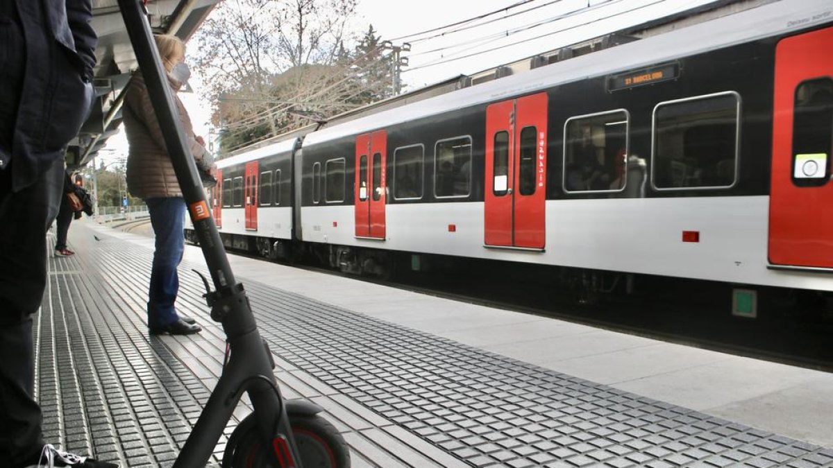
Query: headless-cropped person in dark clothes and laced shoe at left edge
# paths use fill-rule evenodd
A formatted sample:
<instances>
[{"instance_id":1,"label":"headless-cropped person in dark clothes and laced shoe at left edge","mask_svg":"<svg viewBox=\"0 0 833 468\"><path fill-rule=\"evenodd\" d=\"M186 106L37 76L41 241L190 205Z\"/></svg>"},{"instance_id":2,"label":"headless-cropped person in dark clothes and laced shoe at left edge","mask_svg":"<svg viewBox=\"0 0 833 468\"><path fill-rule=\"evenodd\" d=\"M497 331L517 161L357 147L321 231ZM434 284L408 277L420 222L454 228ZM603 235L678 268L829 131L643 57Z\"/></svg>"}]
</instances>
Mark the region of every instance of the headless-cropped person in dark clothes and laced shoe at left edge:
<instances>
[{"instance_id":1,"label":"headless-cropped person in dark clothes and laced shoe at left edge","mask_svg":"<svg viewBox=\"0 0 833 468\"><path fill-rule=\"evenodd\" d=\"M47 281L46 232L64 152L92 102L91 0L0 2L0 465L115 468L42 440L32 398L32 314Z\"/></svg>"}]
</instances>

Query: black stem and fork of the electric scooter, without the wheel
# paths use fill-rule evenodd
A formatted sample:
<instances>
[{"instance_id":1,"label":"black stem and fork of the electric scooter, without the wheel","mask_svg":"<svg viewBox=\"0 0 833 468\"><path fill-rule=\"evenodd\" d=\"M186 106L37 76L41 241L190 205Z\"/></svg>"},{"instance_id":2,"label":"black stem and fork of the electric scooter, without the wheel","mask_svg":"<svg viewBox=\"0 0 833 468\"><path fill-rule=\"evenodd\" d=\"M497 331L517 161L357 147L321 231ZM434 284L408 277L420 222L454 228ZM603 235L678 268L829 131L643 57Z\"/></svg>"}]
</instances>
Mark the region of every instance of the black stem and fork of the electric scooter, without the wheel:
<instances>
[{"instance_id":1,"label":"black stem and fork of the electric scooter, without the wheel","mask_svg":"<svg viewBox=\"0 0 833 468\"><path fill-rule=\"evenodd\" d=\"M232 416L241 391L246 390L255 408L258 427L261 428L266 446L272 446L273 437L282 434L287 438L295 466L300 468L301 459L289 427L286 406L277 392L277 383L272 373L271 356L268 356L257 332L246 292L243 291L242 285L235 281L232 268L229 266L202 181L197 174L197 167L187 149L185 132L176 114L177 107L168 86L167 73L162 68L162 61L147 22L147 11L141 0L118 0L118 5L122 10L133 52L144 75L147 92L162 129L165 146L177 174L194 232L197 233L202 254L217 290L210 293L212 301L215 302L212 317L222 322L223 331L226 332L232 349L230 361L223 369L207 406L173 466L206 466L217 441L222 436L223 428ZM275 457L272 451L270 453ZM275 461L277 466L277 457Z\"/></svg>"}]
</instances>

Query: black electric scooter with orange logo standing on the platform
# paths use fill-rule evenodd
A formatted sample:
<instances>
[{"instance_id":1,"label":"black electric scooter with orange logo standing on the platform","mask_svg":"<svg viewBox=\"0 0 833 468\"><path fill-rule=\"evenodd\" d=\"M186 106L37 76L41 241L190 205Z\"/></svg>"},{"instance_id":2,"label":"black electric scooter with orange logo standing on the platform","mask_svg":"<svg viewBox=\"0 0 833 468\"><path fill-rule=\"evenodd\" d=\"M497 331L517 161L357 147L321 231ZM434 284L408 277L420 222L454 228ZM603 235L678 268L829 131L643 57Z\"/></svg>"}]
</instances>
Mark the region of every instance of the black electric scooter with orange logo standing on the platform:
<instances>
[{"instance_id":1,"label":"black electric scooter with orange logo standing on the platform","mask_svg":"<svg viewBox=\"0 0 833 468\"><path fill-rule=\"evenodd\" d=\"M227 335L222 375L173 468L206 466L243 392L247 392L254 411L229 437L222 458L223 468L349 468L347 443L330 422L317 415L322 408L308 401L284 401L281 396L272 372L275 367L272 353L257 331L246 291L234 279L201 177L187 149L185 132L176 115L172 91L147 22L145 2L118 0L212 276L215 291L211 291L205 276L200 275L212 320L222 323Z\"/></svg>"}]
</instances>

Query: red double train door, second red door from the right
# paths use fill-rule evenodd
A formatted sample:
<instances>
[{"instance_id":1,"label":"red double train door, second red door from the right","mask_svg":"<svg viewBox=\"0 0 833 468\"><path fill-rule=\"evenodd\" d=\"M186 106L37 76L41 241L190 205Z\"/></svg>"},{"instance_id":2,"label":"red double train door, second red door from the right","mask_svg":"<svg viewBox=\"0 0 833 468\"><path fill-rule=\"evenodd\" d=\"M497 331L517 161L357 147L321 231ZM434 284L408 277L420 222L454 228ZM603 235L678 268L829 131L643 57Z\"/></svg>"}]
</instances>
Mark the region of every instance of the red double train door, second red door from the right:
<instances>
[{"instance_id":1,"label":"red double train door, second red door from the right","mask_svg":"<svg viewBox=\"0 0 833 468\"><path fill-rule=\"evenodd\" d=\"M486 246L543 249L546 93L486 107Z\"/></svg>"}]
</instances>

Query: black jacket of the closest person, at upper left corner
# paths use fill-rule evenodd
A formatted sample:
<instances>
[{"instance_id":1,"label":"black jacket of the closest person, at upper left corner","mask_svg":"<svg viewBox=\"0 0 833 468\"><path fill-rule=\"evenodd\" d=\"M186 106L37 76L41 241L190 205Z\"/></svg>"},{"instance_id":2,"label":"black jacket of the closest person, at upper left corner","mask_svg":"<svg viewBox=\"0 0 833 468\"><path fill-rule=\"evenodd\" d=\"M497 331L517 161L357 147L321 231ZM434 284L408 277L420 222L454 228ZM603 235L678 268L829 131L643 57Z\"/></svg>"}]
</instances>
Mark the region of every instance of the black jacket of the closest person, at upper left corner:
<instances>
[{"instance_id":1,"label":"black jacket of the closest person, at upper left corner","mask_svg":"<svg viewBox=\"0 0 833 468\"><path fill-rule=\"evenodd\" d=\"M12 190L63 156L92 102L91 0L0 1L0 170Z\"/></svg>"}]
</instances>

